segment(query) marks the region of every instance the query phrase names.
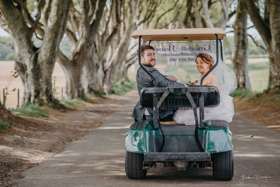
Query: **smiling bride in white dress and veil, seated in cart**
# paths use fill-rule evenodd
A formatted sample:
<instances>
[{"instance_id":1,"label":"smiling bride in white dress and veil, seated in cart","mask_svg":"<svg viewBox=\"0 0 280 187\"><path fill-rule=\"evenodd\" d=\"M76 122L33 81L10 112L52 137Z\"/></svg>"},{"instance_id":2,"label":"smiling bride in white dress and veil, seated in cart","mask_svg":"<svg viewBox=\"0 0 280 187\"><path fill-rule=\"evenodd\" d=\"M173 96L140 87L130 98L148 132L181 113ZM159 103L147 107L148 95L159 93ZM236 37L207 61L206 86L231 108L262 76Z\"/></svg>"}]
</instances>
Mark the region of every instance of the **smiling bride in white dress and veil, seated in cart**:
<instances>
[{"instance_id":1,"label":"smiling bride in white dress and veil, seated in cart","mask_svg":"<svg viewBox=\"0 0 280 187\"><path fill-rule=\"evenodd\" d=\"M203 76L216 63L216 54L199 53L195 59L196 67ZM196 85L200 85L200 81ZM218 65L203 79L203 86L216 86L220 92L220 104L216 107L204 107L204 122L209 120L223 120L231 122L234 115L232 97L229 96L236 89L236 74L219 57ZM199 119L199 108L197 108ZM193 110L177 110L173 120L180 124L194 125Z\"/></svg>"}]
</instances>

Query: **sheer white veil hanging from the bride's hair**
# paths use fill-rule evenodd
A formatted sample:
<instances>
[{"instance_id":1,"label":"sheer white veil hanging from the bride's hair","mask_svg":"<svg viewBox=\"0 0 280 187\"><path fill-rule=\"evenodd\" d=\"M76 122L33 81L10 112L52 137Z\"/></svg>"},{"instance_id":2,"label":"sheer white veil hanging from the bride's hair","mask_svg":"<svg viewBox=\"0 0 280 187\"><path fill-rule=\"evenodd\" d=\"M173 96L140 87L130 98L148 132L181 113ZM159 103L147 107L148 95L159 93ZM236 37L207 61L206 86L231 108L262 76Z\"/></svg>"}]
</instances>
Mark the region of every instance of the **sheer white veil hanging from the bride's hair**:
<instances>
[{"instance_id":1,"label":"sheer white veil hanging from the bride's hair","mask_svg":"<svg viewBox=\"0 0 280 187\"><path fill-rule=\"evenodd\" d=\"M215 65L217 62L217 55L214 53L208 53L208 55L213 58ZM222 61L220 57L218 65L211 72L213 72L217 77L220 92L229 95L237 88L236 74Z\"/></svg>"}]
</instances>

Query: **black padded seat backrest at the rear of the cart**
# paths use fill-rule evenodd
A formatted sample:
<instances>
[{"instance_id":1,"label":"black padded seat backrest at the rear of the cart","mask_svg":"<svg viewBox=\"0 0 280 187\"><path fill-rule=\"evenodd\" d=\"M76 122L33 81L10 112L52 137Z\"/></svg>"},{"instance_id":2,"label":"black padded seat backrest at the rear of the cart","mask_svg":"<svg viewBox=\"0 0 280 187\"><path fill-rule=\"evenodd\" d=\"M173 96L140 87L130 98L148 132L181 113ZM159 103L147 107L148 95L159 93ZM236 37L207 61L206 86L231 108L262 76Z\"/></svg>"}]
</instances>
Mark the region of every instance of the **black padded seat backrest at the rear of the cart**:
<instances>
[{"instance_id":1,"label":"black padded seat backrest at the rear of the cart","mask_svg":"<svg viewBox=\"0 0 280 187\"><path fill-rule=\"evenodd\" d=\"M215 86L207 86L207 87L210 87L212 90L215 91L204 93L204 107L218 106L220 103L219 90ZM199 107L200 92L190 92L190 93L194 99L194 102L196 103L196 106ZM159 93L160 97L162 94L163 93ZM143 107L152 108L153 98L154 98L154 93L145 93L145 88L143 88L140 91L140 104ZM169 93L161 104L161 109L163 110L177 110L182 107L192 107L185 93L180 93L180 95L178 95L177 93Z\"/></svg>"}]
</instances>

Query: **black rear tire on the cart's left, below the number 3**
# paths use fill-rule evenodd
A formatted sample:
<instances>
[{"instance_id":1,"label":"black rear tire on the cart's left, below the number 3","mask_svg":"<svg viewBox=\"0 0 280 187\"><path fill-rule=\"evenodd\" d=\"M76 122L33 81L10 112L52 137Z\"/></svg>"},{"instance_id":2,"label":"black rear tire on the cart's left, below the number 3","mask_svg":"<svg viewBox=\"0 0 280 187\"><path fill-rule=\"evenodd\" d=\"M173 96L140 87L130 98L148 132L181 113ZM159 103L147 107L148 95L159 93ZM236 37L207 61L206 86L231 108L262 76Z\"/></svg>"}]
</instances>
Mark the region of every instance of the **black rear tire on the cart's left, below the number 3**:
<instances>
[{"instance_id":1,"label":"black rear tire on the cart's left, below the number 3","mask_svg":"<svg viewBox=\"0 0 280 187\"><path fill-rule=\"evenodd\" d=\"M144 179L147 170L143 170L144 154L125 151L125 173L129 179Z\"/></svg>"}]
</instances>

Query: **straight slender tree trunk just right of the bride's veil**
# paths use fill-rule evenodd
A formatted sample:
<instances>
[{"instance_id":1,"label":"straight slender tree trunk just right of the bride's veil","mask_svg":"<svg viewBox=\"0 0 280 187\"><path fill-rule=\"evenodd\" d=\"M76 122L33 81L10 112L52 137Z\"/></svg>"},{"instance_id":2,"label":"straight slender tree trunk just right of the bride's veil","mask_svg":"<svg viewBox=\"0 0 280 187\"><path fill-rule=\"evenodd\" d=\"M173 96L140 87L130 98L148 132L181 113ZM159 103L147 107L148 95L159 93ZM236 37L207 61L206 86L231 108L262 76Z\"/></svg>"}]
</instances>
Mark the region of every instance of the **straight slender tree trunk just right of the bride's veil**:
<instances>
[{"instance_id":1,"label":"straight slender tree trunk just right of the bride's veil","mask_svg":"<svg viewBox=\"0 0 280 187\"><path fill-rule=\"evenodd\" d=\"M234 46L231 53L231 60L236 74L237 86L251 91L248 76L247 11L242 1L238 2L233 28Z\"/></svg>"}]
</instances>

